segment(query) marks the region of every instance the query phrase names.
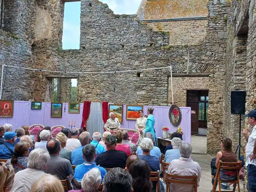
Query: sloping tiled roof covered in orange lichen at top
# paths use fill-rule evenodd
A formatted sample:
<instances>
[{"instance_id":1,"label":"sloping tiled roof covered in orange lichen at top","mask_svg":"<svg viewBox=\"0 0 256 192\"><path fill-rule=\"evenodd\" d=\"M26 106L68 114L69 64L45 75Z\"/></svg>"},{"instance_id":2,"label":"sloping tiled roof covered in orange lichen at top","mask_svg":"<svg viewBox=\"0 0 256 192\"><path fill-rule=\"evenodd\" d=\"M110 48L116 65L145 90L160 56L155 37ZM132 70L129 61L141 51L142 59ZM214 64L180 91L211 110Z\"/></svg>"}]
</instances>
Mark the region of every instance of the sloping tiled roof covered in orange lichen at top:
<instances>
[{"instance_id":1,"label":"sloping tiled roof covered in orange lichen at top","mask_svg":"<svg viewBox=\"0 0 256 192\"><path fill-rule=\"evenodd\" d=\"M140 20L207 17L208 0L142 0Z\"/></svg>"}]
</instances>

